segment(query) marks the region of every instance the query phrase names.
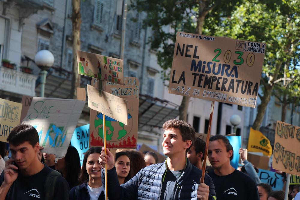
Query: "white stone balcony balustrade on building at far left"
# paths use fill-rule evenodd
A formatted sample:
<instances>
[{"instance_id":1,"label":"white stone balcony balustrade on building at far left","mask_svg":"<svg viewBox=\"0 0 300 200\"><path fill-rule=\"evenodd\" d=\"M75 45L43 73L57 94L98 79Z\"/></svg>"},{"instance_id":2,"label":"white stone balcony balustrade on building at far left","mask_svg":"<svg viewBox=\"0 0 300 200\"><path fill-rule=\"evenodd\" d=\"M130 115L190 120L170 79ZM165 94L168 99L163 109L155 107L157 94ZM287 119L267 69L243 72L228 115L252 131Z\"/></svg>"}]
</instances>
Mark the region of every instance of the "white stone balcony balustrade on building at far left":
<instances>
[{"instance_id":1,"label":"white stone balcony balustrade on building at far left","mask_svg":"<svg viewBox=\"0 0 300 200\"><path fill-rule=\"evenodd\" d=\"M36 79L35 75L0 67L0 90L35 96Z\"/></svg>"}]
</instances>

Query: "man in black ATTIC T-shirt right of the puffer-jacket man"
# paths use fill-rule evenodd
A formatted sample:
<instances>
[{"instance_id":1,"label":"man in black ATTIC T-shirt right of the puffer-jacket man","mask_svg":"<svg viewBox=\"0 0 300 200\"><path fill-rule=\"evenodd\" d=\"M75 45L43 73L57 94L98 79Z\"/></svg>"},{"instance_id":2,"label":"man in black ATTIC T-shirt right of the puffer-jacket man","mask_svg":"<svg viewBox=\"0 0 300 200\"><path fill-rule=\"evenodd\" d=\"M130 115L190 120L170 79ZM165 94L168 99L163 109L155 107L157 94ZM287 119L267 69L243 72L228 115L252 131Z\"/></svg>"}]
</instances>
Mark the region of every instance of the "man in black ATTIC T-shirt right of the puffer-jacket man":
<instances>
[{"instance_id":1,"label":"man in black ATTIC T-shirt right of the puffer-jacket man","mask_svg":"<svg viewBox=\"0 0 300 200\"><path fill-rule=\"evenodd\" d=\"M216 186L218 199L222 200L259 200L255 182L248 175L230 165L233 148L222 135L209 139L208 159L214 171L208 173Z\"/></svg>"}]
</instances>

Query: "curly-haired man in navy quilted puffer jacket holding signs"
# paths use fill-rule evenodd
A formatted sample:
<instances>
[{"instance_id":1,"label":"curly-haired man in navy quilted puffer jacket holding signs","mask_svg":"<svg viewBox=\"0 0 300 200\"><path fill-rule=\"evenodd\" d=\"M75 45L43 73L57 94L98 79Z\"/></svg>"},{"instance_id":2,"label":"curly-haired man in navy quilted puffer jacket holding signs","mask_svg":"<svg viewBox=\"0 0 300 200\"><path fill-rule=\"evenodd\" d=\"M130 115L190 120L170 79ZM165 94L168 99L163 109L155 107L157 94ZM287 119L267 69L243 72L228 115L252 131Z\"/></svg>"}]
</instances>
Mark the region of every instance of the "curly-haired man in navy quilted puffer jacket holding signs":
<instances>
[{"instance_id":1,"label":"curly-haired man in navy quilted puffer jacket holding signs","mask_svg":"<svg viewBox=\"0 0 300 200\"><path fill-rule=\"evenodd\" d=\"M101 151L99 162L107 167L108 197L119 199L215 199L214 184L208 175L199 184L202 171L187 159L187 151L195 140L194 129L185 121L169 120L163 125L164 163L143 168L131 180L119 185L113 154ZM103 148L104 150L104 148ZM104 177L104 171L102 171ZM104 179L102 180L104 184Z\"/></svg>"}]
</instances>

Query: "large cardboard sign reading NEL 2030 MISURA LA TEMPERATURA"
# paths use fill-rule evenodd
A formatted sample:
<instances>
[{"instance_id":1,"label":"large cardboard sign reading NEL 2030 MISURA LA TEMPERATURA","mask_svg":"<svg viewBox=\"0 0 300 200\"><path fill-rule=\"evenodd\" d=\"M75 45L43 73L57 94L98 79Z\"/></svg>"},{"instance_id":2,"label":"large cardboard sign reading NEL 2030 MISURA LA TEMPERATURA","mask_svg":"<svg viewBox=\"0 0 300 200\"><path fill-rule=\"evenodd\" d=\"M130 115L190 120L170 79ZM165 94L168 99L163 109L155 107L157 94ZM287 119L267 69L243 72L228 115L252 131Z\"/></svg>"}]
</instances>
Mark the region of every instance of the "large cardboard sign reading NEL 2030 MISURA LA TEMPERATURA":
<instances>
[{"instance_id":1,"label":"large cardboard sign reading NEL 2030 MISURA LA TEMPERATURA","mask_svg":"<svg viewBox=\"0 0 300 200\"><path fill-rule=\"evenodd\" d=\"M255 107L265 43L177 32L169 93Z\"/></svg>"}]
</instances>

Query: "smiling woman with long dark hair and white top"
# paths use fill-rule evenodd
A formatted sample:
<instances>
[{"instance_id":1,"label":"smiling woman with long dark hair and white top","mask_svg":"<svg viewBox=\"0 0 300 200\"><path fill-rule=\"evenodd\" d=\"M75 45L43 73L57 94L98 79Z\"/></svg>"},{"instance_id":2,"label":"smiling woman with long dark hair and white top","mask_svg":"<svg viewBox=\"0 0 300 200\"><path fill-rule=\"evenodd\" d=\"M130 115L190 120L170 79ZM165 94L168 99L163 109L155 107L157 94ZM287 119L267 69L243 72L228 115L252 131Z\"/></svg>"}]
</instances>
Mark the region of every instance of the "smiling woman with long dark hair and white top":
<instances>
[{"instance_id":1,"label":"smiling woman with long dark hair and white top","mask_svg":"<svg viewBox=\"0 0 300 200\"><path fill-rule=\"evenodd\" d=\"M98 159L101 155L100 147L91 147L84 155L79 174L79 184L69 192L70 200L104 200L101 168Z\"/></svg>"}]
</instances>

